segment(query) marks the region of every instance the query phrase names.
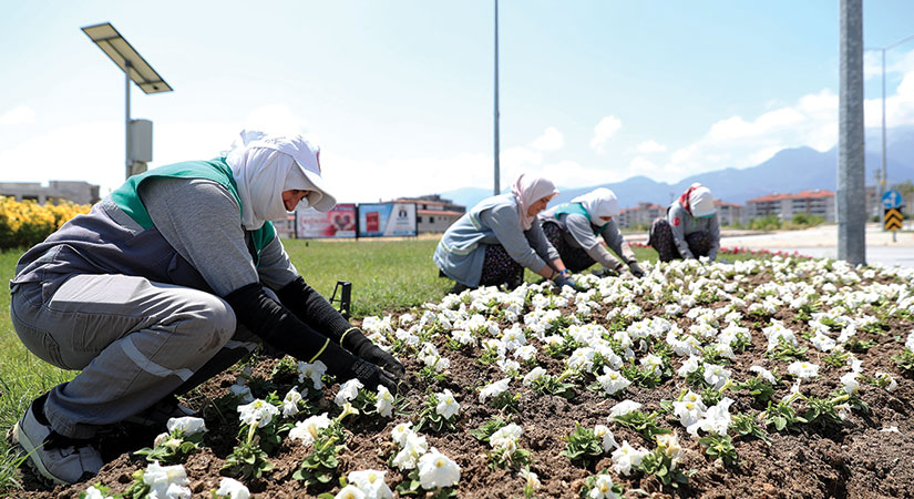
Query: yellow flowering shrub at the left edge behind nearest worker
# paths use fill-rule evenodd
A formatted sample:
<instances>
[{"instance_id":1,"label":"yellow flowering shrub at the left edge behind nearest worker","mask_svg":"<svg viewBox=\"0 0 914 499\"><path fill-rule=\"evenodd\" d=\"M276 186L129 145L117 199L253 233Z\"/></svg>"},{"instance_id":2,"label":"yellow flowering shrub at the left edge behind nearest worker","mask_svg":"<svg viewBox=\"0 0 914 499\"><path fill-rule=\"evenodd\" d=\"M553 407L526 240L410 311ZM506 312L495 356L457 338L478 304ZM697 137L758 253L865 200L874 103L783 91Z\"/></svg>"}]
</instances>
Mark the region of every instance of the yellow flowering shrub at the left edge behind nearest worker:
<instances>
[{"instance_id":1,"label":"yellow flowering shrub at the left edge behind nearest worker","mask_svg":"<svg viewBox=\"0 0 914 499\"><path fill-rule=\"evenodd\" d=\"M70 218L89 213L90 205L61 201L41 205L0 196L0 249L28 247L44 241Z\"/></svg>"}]
</instances>

